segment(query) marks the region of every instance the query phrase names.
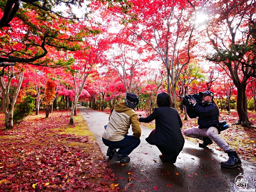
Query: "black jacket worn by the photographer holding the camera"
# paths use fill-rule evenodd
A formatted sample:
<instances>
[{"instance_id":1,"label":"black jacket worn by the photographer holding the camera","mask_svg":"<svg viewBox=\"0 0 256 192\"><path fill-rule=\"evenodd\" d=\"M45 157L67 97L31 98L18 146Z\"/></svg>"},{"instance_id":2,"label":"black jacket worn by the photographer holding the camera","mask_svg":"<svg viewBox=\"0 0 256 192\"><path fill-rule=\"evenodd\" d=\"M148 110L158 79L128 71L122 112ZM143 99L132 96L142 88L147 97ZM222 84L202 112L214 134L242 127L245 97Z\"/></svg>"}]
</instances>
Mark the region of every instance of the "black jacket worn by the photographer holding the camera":
<instances>
[{"instance_id":1,"label":"black jacket worn by the photographer holding the camera","mask_svg":"<svg viewBox=\"0 0 256 192\"><path fill-rule=\"evenodd\" d=\"M219 108L213 102L210 101L207 104L196 103L193 107L187 107L187 114L190 118L198 117L198 128L205 129L209 127L216 127L216 124L219 123Z\"/></svg>"}]
</instances>

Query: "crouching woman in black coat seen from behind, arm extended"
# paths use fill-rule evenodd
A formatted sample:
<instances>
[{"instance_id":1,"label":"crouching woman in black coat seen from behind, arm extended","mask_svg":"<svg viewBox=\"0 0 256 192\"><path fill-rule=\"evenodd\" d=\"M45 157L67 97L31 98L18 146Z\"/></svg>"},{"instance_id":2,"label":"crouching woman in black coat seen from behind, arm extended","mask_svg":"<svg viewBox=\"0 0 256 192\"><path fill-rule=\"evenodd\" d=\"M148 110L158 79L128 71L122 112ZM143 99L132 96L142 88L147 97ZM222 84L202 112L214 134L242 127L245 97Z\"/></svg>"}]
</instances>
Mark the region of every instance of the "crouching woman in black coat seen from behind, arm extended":
<instances>
[{"instance_id":1,"label":"crouching woman in black coat seen from behind, arm extended","mask_svg":"<svg viewBox=\"0 0 256 192\"><path fill-rule=\"evenodd\" d=\"M175 163L183 149L185 140L181 133L182 121L178 111L171 105L171 97L167 93L157 95L157 105L148 117L140 117L139 121L148 123L156 119L156 129L146 138L146 141L161 151L160 157Z\"/></svg>"}]
</instances>

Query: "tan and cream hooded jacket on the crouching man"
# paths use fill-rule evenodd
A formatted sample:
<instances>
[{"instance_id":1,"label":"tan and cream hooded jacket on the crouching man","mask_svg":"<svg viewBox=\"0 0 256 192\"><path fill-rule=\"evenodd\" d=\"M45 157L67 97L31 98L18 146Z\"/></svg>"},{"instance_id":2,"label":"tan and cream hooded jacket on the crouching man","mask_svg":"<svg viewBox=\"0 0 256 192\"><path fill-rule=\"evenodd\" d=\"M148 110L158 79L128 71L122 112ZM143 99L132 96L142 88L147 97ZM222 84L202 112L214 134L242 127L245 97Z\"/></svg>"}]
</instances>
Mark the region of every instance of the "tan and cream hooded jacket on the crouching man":
<instances>
[{"instance_id":1,"label":"tan and cream hooded jacket on the crouching man","mask_svg":"<svg viewBox=\"0 0 256 192\"><path fill-rule=\"evenodd\" d=\"M141 130L138 114L128 107L125 102L116 104L112 110L108 127L102 137L108 141L121 141L127 135L130 125L132 125L132 132L139 139Z\"/></svg>"}]
</instances>

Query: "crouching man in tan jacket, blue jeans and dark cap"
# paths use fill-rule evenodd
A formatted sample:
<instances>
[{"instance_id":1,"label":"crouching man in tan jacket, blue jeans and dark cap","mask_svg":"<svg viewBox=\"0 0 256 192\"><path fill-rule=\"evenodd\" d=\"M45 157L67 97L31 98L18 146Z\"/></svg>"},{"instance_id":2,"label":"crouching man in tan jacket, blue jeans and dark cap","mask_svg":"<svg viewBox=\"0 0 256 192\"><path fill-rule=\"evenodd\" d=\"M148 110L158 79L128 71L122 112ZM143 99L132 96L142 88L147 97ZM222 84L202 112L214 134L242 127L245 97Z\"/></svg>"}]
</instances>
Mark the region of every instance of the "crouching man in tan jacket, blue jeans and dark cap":
<instances>
[{"instance_id":1,"label":"crouching man in tan jacket, blue jeans and dark cap","mask_svg":"<svg viewBox=\"0 0 256 192\"><path fill-rule=\"evenodd\" d=\"M108 126L102 135L103 143L108 146L107 156L122 163L130 161L128 155L140 144L140 123L134 111L139 100L135 93L126 93L125 102L112 107ZM133 135L128 135L130 125ZM116 149L119 150L116 152Z\"/></svg>"}]
</instances>

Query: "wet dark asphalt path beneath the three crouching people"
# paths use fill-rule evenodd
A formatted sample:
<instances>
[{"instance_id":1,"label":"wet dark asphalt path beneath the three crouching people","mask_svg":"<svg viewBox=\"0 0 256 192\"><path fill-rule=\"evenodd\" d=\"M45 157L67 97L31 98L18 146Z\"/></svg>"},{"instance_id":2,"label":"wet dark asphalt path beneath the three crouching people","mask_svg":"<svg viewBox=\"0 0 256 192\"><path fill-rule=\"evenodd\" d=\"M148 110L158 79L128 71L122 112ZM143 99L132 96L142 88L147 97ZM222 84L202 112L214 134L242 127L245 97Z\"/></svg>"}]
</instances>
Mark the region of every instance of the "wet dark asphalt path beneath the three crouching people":
<instances>
[{"instance_id":1,"label":"wet dark asphalt path beneath the three crouching people","mask_svg":"<svg viewBox=\"0 0 256 192\"><path fill-rule=\"evenodd\" d=\"M235 186L235 180L240 173L247 181L246 189L256 191L256 166L252 163L242 160L240 169L222 168L220 162L228 159L226 153L210 148L202 149L197 143L186 140L175 164L162 162L158 148L149 145L145 140L152 129L143 126L140 145L129 155L131 161L121 165L105 155L108 147L101 140L109 115L80 105L77 108L94 134L103 157L117 175L117 183L120 183L124 191L234 192L239 190ZM131 128L129 134L132 134Z\"/></svg>"}]
</instances>

